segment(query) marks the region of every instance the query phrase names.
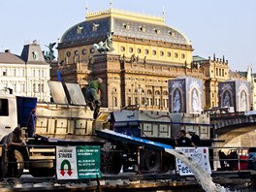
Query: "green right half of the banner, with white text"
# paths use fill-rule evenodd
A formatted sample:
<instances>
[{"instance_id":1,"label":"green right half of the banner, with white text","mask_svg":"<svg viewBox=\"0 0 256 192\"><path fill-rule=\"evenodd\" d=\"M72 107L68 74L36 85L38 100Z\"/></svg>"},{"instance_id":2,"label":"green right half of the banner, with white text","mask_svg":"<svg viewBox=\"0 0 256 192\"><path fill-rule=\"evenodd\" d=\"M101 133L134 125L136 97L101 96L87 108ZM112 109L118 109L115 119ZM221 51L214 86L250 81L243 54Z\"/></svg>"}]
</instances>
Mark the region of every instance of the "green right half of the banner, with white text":
<instances>
[{"instance_id":1,"label":"green right half of the banner, with white text","mask_svg":"<svg viewBox=\"0 0 256 192\"><path fill-rule=\"evenodd\" d=\"M77 146L77 169L78 178L101 177L101 147Z\"/></svg>"}]
</instances>

